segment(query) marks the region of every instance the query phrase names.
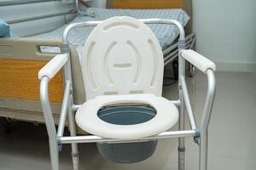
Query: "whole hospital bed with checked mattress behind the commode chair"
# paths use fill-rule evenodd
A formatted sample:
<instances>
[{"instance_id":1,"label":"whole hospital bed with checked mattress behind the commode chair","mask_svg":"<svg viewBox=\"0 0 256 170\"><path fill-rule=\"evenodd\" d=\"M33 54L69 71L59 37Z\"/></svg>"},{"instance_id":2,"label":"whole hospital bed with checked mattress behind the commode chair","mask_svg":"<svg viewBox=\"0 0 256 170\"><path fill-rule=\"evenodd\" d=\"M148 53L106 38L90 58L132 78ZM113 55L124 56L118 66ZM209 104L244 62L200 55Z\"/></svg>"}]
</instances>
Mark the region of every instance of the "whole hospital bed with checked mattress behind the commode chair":
<instances>
[{"instance_id":1,"label":"whole hospital bed with checked mattress behind the commode chair","mask_svg":"<svg viewBox=\"0 0 256 170\"><path fill-rule=\"evenodd\" d=\"M128 2L128 1L125 1ZM133 1L137 3L139 1ZM153 1L148 1L148 4ZM177 2L172 0L170 2ZM182 2L182 1L179 1ZM119 1L113 1L113 8L135 8L131 6L125 7L124 3ZM154 2L156 3L156 2ZM188 6L189 1L183 1L181 5L175 6L175 8L183 8ZM150 3L151 4L151 3ZM175 3L176 5L177 3ZM173 4L171 4L173 5ZM137 4L135 6L138 7ZM139 6L139 8L149 8L148 6ZM160 7L162 8L162 7ZM166 8L172 8L172 6L166 5ZM185 8L186 9L186 8ZM100 9L90 8L95 13L95 17L78 15L71 23L84 21L84 20L103 20L106 17L113 15L130 15L132 17L138 16L139 18L154 17L162 18L166 14L172 13L177 17L183 26L188 22L189 10L184 14L179 9L167 9L167 10L139 10L135 11L135 15L131 10L124 9ZM163 12L164 11L164 12ZM84 11L86 12L86 11ZM151 14L151 15L150 15ZM179 14L182 14L181 17ZM35 20L35 19L33 19ZM173 30L173 26L151 26L152 31L158 37L161 48L163 49L165 65L172 62L177 57L177 40L178 30ZM61 53L62 41L61 31L64 31L65 27L50 31L44 34L35 35L33 37L15 37L15 38L1 38L0 39L0 116L15 118L18 120L29 122L44 122L42 115L42 109L39 102L39 89L35 84L39 84L37 78L37 72L44 66L49 59L52 59L55 54ZM186 26L187 32L191 33L191 23ZM79 28L82 31L82 35L73 35L75 31L71 31L68 38L70 43L71 53L71 65L73 72L73 100L76 105L80 105L85 101L84 83L79 79L81 70L79 68L79 56L81 55L81 48L84 45L86 37L88 37L93 27ZM165 34L161 34L161 31ZM170 31L173 30L173 31ZM164 36L162 36L164 35ZM82 37L82 38L80 38ZM78 41L79 40L79 41ZM82 41L82 42L80 42ZM186 38L187 48L192 48L195 43L195 34L190 34ZM62 71L59 71L57 76L49 83L49 100L52 105L53 116L55 122L58 122L61 111L61 101L63 96L63 75ZM58 90L53 90L58 89Z\"/></svg>"}]
</instances>

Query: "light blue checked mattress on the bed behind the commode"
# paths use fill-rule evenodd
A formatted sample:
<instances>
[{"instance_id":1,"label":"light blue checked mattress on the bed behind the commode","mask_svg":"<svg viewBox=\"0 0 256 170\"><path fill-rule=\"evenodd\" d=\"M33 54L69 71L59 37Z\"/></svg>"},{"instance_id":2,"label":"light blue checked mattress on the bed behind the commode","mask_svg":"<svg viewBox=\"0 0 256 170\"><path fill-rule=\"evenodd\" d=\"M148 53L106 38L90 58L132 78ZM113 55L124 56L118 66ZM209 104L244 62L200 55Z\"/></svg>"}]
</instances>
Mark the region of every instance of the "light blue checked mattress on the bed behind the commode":
<instances>
[{"instance_id":1,"label":"light blue checked mattress on the bed behind the commode","mask_svg":"<svg viewBox=\"0 0 256 170\"><path fill-rule=\"evenodd\" d=\"M189 15L183 9L107 9L107 8L86 8L86 13L95 14L92 16L84 16L79 14L73 21L68 24L84 22L89 20L106 20L113 16L131 16L137 19L160 18L177 20L182 26L186 26L189 21ZM67 25L68 25L67 24ZM54 31L49 31L43 34L32 36L34 38L46 39L61 39L62 33L66 26L62 26ZM163 24L148 24L149 28L154 32L162 48L168 45L177 38L179 31L176 26ZM71 42L78 50L79 56L82 54L84 42L93 30L93 26L85 26L81 28L74 28L68 35L68 41ZM55 53L56 48L41 48L44 52Z\"/></svg>"}]
</instances>

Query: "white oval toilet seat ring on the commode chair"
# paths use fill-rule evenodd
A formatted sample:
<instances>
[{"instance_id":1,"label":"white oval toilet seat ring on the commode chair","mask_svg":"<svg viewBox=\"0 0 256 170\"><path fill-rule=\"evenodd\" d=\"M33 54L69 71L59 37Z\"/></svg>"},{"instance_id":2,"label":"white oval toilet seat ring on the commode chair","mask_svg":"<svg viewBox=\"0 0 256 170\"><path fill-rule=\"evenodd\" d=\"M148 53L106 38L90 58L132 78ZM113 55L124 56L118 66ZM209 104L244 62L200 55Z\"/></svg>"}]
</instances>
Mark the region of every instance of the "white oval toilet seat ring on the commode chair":
<instances>
[{"instance_id":1,"label":"white oval toilet seat ring on the commode chair","mask_svg":"<svg viewBox=\"0 0 256 170\"><path fill-rule=\"evenodd\" d=\"M135 125L117 125L102 121L97 112L106 105L146 104L156 110L154 118ZM84 131L108 139L137 139L162 133L178 120L177 107L168 99L154 94L98 96L82 105L76 113L76 122Z\"/></svg>"}]
</instances>

